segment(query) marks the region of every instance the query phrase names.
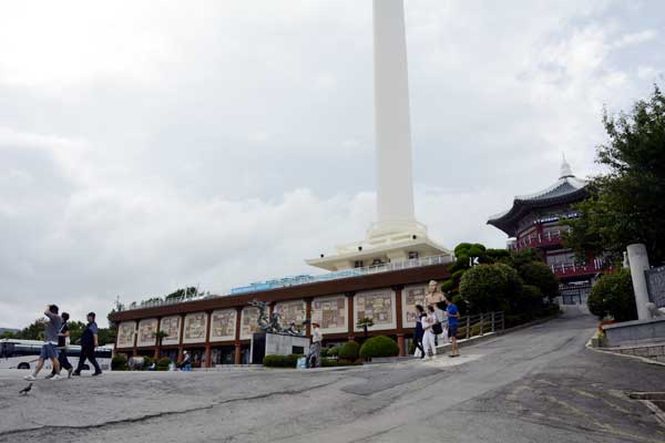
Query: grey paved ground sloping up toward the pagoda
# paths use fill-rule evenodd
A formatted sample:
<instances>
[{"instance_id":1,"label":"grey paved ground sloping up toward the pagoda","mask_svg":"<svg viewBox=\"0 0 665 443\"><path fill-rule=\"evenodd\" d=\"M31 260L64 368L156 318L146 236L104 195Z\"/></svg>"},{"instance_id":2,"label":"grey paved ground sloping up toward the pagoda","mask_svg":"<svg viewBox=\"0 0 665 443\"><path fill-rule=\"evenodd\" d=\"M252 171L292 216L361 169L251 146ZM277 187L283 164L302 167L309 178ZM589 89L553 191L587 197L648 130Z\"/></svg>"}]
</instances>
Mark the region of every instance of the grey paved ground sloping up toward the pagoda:
<instances>
[{"instance_id":1,"label":"grey paved ground sloping up toward the pagoda","mask_svg":"<svg viewBox=\"0 0 665 443\"><path fill-rule=\"evenodd\" d=\"M665 442L625 391L665 391L665 367L584 348L567 313L461 359L335 371L0 372L0 442Z\"/></svg>"}]
</instances>

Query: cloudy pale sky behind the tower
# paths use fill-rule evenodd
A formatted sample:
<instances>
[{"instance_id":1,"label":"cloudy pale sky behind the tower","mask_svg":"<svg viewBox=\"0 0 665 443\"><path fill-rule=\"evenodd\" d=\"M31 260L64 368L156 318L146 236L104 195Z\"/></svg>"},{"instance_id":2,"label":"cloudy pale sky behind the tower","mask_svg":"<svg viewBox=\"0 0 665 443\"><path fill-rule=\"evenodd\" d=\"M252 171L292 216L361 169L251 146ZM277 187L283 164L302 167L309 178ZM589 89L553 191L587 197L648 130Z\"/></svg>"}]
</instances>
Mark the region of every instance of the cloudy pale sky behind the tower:
<instances>
[{"instance_id":1,"label":"cloudy pale sky behind the tower","mask_svg":"<svg viewBox=\"0 0 665 443\"><path fill-rule=\"evenodd\" d=\"M658 1L407 0L416 207L487 226L597 172L601 114L665 83ZM0 327L47 302L303 272L375 217L369 0L0 6ZM105 320L102 321L105 324Z\"/></svg>"}]
</instances>

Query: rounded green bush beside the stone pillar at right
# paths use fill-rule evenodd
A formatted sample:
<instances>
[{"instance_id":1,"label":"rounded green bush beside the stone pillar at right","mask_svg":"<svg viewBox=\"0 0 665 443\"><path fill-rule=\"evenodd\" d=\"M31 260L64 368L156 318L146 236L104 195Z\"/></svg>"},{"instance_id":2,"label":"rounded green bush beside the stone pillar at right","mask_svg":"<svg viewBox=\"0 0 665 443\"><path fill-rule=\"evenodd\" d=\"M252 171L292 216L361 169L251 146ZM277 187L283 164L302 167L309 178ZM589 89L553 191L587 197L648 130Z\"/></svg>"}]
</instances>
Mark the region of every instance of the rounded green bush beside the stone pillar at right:
<instances>
[{"instance_id":1,"label":"rounded green bush beside the stone pillar at right","mask_svg":"<svg viewBox=\"0 0 665 443\"><path fill-rule=\"evenodd\" d=\"M637 319L633 281L627 269L605 274L591 289L589 310L601 320L608 313L616 321Z\"/></svg>"}]
</instances>

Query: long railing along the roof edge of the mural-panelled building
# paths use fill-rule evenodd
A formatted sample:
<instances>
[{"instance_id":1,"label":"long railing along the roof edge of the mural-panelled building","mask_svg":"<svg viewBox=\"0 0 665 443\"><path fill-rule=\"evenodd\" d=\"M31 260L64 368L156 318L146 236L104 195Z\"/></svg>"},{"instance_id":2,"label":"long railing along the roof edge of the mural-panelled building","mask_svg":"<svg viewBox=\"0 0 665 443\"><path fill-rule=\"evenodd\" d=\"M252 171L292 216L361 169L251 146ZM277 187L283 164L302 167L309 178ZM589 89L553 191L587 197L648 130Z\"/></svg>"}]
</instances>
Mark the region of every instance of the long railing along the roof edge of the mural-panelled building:
<instances>
[{"instance_id":1,"label":"long railing along the roof edge of the mural-panelled building","mask_svg":"<svg viewBox=\"0 0 665 443\"><path fill-rule=\"evenodd\" d=\"M177 303L187 303L197 300L204 300L208 298L216 297L228 297L228 296L239 296L244 293L253 293L260 292L270 289L278 288L287 288L291 286L307 285L319 281L330 281L330 280L339 280L342 278L352 278L352 277L364 277L368 275L375 275L380 272L390 272L393 270L402 270L410 268L420 268L423 266L431 265L443 265L450 262L452 257L450 256L431 256L431 257L422 257L422 258L412 258L403 261L391 261L387 264L366 266L362 268L354 268L354 269L345 269L340 271L323 274L319 276L296 276L296 277L286 277L282 279L267 280L259 284L253 284L249 286L233 288L231 291L225 291L224 295L206 295L193 298L172 298L172 299L158 299L158 300L149 300L142 301L140 303L133 302L129 306L125 306L123 310L134 310L134 309L145 309L145 308L154 308L158 306L167 306L167 305L177 305Z\"/></svg>"}]
</instances>

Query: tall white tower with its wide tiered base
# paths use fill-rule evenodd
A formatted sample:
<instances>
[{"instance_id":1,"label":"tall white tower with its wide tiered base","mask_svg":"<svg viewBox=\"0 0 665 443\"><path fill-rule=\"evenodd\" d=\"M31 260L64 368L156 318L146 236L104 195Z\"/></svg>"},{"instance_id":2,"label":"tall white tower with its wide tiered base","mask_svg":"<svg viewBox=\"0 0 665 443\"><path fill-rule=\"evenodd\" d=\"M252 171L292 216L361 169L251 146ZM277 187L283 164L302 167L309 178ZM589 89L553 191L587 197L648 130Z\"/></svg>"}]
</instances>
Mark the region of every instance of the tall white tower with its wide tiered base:
<instances>
[{"instance_id":1,"label":"tall white tower with its wide tiered base","mask_svg":"<svg viewBox=\"0 0 665 443\"><path fill-rule=\"evenodd\" d=\"M367 238L306 260L328 270L451 253L427 237L413 210L413 165L403 0L374 0L377 222Z\"/></svg>"}]
</instances>

